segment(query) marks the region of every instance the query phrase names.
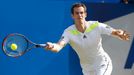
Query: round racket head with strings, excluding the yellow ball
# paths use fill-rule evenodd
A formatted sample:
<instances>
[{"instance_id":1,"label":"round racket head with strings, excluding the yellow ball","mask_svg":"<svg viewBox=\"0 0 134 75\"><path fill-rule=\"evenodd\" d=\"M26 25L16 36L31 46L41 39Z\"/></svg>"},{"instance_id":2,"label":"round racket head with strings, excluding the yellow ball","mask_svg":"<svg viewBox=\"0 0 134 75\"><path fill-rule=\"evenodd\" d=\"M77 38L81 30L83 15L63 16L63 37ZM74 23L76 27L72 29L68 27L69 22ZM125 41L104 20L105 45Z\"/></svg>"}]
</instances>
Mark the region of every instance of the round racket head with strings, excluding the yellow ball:
<instances>
[{"instance_id":1,"label":"round racket head with strings, excluding the yellow ball","mask_svg":"<svg viewBox=\"0 0 134 75\"><path fill-rule=\"evenodd\" d=\"M16 49L11 48L12 44L16 45ZM2 43L2 50L7 56L18 57L26 52L28 46L29 41L24 35L13 33L4 38Z\"/></svg>"}]
</instances>

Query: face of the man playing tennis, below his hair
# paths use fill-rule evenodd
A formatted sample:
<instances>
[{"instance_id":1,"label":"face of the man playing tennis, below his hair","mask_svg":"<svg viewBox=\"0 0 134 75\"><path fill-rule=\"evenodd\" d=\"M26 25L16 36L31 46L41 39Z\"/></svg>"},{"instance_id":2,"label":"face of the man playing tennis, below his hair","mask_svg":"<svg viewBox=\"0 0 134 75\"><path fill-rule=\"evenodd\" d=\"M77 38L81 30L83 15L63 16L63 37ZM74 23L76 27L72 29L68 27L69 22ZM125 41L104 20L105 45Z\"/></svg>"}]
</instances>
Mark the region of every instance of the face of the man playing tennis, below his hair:
<instances>
[{"instance_id":1,"label":"face of the man playing tennis, below his hair","mask_svg":"<svg viewBox=\"0 0 134 75\"><path fill-rule=\"evenodd\" d=\"M87 13L85 12L83 7L75 7L74 13L72 14L73 19L77 22L85 21L87 17Z\"/></svg>"}]
</instances>

